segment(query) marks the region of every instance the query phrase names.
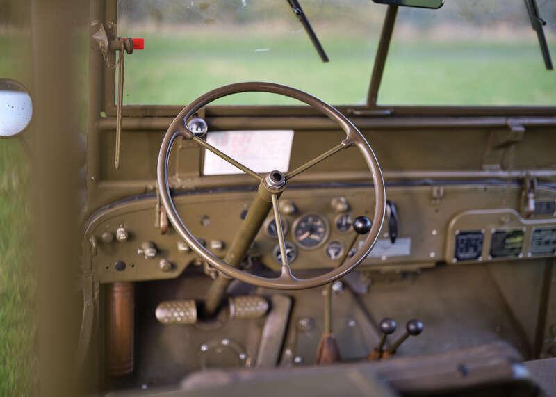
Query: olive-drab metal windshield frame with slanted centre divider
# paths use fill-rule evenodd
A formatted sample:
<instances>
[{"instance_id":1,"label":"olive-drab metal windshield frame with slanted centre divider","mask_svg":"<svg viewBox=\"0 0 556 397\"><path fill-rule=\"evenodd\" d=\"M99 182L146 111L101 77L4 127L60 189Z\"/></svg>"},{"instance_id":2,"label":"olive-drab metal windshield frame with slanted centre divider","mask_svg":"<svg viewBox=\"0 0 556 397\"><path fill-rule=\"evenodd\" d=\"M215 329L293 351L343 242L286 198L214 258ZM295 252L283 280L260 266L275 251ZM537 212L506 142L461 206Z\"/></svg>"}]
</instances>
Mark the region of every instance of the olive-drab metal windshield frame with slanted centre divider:
<instances>
[{"instance_id":1,"label":"olive-drab metal windshield frame with slanted centre divider","mask_svg":"<svg viewBox=\"0 0 556 397\"><path fill-rule=\"evenodd\" d=\"M102 3L103 0L97 0ZM117 0L104 0L105 20L104 26L108 27L108 35L117 35ZM386 66L391 38L398 15L398 6L387 7L382 22L382 32L377 44L377 51L373 60L373 69L368 81L368 95L366 104L334 105L346 115L359 117L386 117L400 116L498 116L498 115L539 115L556 116L556 104L554 106L520 105L520 106L466 106L466 105L387 105L377 104L377 97L382 83L382 75ZM430 10L436 12L436 10ZM110 31L110 28L112 31ZM100 51L97 51L99 53ZM115 63L115 51L108 51L109 63ZM90 60L92 62L92 60ZM116 70L106 66L102 62L100 68L102 77L102 88L104 92L101 98L101 111L107 116L113 117L117 113L116 97ZM95 72L93 72L93 70ZM90 67L90 79L98 77L99 70ZM556 72L554 72L556 73ZM91 84L95 84L91 80ZM208 87L210 90L213 87ZM122 115L126 117L170 117L175 116L187 104L181 105L126 105L122 106ZM207 115L242 116L242 115L276 115L276 116L302 116L317 115L316 111L304 105L211 105L206 107Z\"/></svg>"}]
</instances>

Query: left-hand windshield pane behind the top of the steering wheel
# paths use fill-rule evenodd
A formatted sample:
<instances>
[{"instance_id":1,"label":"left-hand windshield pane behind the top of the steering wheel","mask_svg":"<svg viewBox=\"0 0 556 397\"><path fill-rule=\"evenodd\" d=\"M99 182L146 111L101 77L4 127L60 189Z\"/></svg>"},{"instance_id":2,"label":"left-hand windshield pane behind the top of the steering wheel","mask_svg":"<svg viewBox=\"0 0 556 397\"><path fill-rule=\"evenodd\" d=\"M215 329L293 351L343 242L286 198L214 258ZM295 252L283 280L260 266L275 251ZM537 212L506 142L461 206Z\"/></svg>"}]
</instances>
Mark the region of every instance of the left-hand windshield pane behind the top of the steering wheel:
<instances>
[{"instance_id":1,"label":"left-hand windshield pane behind the top of the steering wheel","mask_svg":"<svg viewBox=\"0 0 556 397\"><path fill-rule=\"evenodd\" d=\"M124 104L184 105L240 81L272 81L334 104L364 104L386 8L370 0L301 0L323 63L288 1L119 0L118 34L145 38L126 57ZM295 104L265 93L215 104Z\"/></svg>"}]
</instances>

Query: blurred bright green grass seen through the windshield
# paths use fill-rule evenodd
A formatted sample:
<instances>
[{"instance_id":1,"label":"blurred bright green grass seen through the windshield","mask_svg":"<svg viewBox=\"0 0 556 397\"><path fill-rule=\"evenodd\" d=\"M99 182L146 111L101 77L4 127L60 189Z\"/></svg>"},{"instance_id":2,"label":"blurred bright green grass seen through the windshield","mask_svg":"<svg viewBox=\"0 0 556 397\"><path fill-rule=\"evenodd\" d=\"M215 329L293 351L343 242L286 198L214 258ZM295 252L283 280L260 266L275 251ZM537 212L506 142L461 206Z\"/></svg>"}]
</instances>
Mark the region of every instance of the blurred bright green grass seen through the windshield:
<instances>
[{"instance_id":1,"label":"blurred bright green grass seen through the windshield","mask_svg":"<svg viewBox=\"0 0 556 397\"><path fill-rule=\"evenodd\" d=\"M332 104L365 102L376 42L323 36L331 59L325 64L306 37L286 38L145 35L145 50L126 58L124 101L185 105L211 88L258 80L294 86ZM551 44L556 54L556 42ZM256 93L218 103L295 102ZM534 40L394 44L379 103L555 105L556 73L544 69Z\"/></svg>"}]
</instances>

